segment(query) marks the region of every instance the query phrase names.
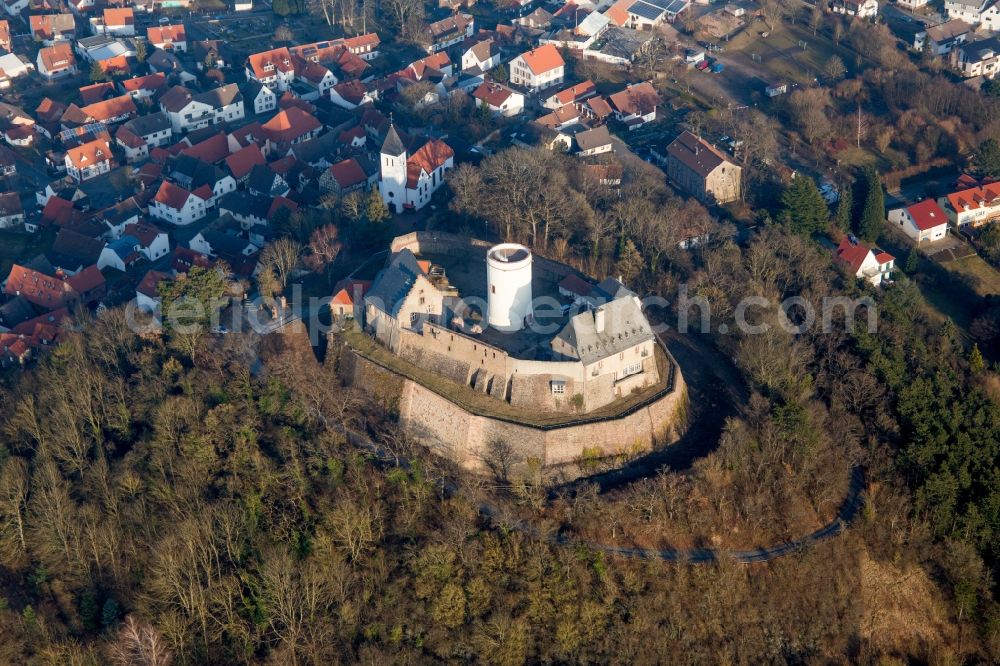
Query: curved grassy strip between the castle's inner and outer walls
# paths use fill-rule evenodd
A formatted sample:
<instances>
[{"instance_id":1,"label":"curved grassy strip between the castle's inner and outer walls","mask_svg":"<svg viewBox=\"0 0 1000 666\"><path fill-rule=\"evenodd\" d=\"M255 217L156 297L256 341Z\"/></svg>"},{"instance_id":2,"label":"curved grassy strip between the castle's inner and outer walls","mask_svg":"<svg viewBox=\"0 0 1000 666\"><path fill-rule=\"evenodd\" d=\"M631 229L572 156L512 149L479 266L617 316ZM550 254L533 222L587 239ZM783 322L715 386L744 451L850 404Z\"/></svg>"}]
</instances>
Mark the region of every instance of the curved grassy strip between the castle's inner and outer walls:
<instances>
[{"instance_id":1,"label":"curved grassy strip between the castle's inner and outer walls","mask_svg":"<svg viewBox=\"0 0 1000 666\"><path fill-rule=\"evenodd\" d=\"M417 382L421 386L454 402L466 411L483 416L506 418L526 425L558 425L581 418L615 416L656 394L657 391L666 386L670 373L670 361L667 359L663 349L657 345L655 347L656 365L660 372L660 381L657 384L586 414L532 413L522 408L514 407L502 400L492 398L485 393L480 393L471 387L453 382L426 368L418 367L380 346L357 328L349 328L344 331L343 335L347 344L361 356L390 368L396 374Z\"/></svg>"}]
</instances>

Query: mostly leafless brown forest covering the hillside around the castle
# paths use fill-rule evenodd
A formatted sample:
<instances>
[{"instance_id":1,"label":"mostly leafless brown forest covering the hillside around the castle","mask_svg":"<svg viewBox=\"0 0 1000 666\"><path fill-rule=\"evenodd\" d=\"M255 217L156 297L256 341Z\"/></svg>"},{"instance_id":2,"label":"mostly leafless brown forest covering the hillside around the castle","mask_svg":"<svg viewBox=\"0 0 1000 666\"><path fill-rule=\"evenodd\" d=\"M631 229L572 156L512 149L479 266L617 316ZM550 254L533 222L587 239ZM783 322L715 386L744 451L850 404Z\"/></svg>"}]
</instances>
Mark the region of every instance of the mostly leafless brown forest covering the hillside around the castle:
<instances>
[{"instance_id":1,"label":"mostly leafless brown forest covering the hillside around the castle","mask_svg":"<svg viewBox=\"0 0 1000 666\"><path fill-rule=\"evenodd\" d=\"M860 289L779 223L640 258L637 281L683 278L723 316L747 289ZM320 363L293 332L176 344L103 313L4 393L0 661L995 660L997 377L905 278L878 300L874 335L720 339L751 398L713 453L552 500L412 446L391 404L342 384L335 340ZM852 463L862 515L768 564L586 545L791 538Z\"/></svg>"}]
</instances>

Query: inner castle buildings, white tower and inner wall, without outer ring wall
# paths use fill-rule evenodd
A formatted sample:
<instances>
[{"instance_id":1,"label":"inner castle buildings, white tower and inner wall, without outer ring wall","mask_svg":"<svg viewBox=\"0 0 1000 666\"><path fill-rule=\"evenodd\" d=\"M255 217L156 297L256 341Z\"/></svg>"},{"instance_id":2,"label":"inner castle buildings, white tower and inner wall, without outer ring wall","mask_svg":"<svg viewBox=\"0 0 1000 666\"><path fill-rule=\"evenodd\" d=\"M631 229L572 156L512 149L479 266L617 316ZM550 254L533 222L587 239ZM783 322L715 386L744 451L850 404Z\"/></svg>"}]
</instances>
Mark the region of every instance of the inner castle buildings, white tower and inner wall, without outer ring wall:
<instances>
[{"instance_id":1,"label":"inner castle buildings, white tower and inner wall, without outer ring wall","mask_svg":"<svg viewBox=\"0 0 1000 666\"><path fill-rule=\"evenodd\" d=\"M659 381L652 328L621 282L559 294L533 274L524 246L497 245L485 259L467 294L445 267L394 253L365 295L365 330L422 368L524 409L587 413Z\"/></svg>"}]
</instances>

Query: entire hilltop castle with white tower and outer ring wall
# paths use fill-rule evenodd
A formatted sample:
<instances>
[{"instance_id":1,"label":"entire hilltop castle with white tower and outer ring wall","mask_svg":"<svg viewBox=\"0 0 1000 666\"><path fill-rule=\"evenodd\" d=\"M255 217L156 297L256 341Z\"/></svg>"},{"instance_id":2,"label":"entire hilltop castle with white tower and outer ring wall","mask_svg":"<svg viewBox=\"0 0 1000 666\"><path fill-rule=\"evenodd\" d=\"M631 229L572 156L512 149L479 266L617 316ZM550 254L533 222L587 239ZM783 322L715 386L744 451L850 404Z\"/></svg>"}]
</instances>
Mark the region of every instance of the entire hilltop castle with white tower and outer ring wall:
<instances>
[{"instance_id":1,"label":"entire hilltop castle with white tower and outer ring wall","mask_svg":"<svg viewBox=\"0 0 1000 666\"><path fill-rule=\"evenodd\" d=\"M522 245L415 232L372 282L344 284L332 307L377 343L347 348L347 380L467 469L488 471L503 442L515 469L572 477L584 458L647 451L683 428L680 369L620 280Z\"/></svg>"}]
</instances>

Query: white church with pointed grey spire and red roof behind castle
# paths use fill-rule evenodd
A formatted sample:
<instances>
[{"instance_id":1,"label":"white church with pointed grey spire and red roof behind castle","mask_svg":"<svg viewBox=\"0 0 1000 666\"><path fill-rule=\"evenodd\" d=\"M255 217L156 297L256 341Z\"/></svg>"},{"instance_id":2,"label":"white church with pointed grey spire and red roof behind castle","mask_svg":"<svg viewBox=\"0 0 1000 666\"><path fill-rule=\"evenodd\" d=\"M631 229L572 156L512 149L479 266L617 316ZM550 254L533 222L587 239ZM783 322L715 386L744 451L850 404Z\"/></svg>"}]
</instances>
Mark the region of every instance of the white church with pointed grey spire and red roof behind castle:
<instances>
[{"instance_id":1,"label":"white church with pointed grey spire and red roof behind castle","mask_svg":"<svg viewBox=\"0 0 1000 666\"><path fill-rule=\"evenodd\" d=\"M420 210L444 184L444 173L454 166L455 152L443 141L431 139L410 154L394 126L382 143L379 192L390 210Z\"/></svg>"}]
</instances>

